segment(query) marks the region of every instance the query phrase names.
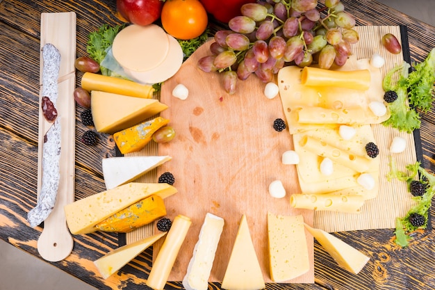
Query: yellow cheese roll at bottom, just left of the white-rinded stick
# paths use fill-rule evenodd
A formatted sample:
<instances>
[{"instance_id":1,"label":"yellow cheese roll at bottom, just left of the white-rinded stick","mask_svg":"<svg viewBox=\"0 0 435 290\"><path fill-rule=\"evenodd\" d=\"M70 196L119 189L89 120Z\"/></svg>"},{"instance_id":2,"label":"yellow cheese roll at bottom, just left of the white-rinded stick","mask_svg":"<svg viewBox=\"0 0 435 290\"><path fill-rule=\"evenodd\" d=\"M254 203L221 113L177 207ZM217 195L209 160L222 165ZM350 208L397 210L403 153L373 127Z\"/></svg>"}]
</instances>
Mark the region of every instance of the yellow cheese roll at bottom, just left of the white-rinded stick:
<instances>
[{"instance_id":1,"label":"yellow cheese roll at bottom, just left of the white-rinded stick","mask_svg":"<svg viewBox=\"0 0 435 290\"><path fill-rule=\"evenodd\" d=\"M191 224L192 221L187 216L178 215L174 218L171 229L167 233L162 248L149 272L148 287L154 290L163 290Z\"/></svg>"}]
</instances>

